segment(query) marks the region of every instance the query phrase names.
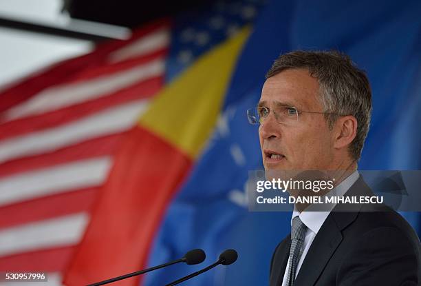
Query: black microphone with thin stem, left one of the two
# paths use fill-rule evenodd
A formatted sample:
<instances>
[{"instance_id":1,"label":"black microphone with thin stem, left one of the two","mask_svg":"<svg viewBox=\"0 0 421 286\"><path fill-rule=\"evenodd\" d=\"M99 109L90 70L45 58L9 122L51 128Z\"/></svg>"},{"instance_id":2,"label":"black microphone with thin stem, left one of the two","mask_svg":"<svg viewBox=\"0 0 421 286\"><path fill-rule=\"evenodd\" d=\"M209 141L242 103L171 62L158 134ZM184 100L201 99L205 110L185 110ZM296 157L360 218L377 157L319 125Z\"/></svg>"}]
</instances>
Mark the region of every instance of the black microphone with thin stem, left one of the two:
<instances>
[{"instance_id":1,"label":"black microphone with thin stem, left one of the two","mask_svg":"<svg viewBox=\"0 0 421 286\"><path fill-rule=\"evenodd\" d=\"M104 284L116 282L118 280L122 280L122 279L126 279L126 278L129 278L129 277L144 274L144 273L147 273L147 272L150 272L150 271L153 271L153 270L156 270L156 269L160 269L160 268L163 268L163 267L166 267L166 266L169 266L169 265L173 265L175 263L180 263L180 262L184 262L188 265L199 264L199 263L202 263L205 260L205 258L206 258L206 254L204 253L204 251L202 249L193 249L193 250L187 252L186 254L184 254L183 258L177 259L175 261L170 261L169 263L164 263L164 264L154 266L154 267L151 267L151 268L147 268L147 269L144 269L144 270L140 270L140 271L137 271L137 272L132 272L132 273L125 274L125 275L122 275L122 276L118 276L118 277L115 277L115 278L103 280L103 281L100 281L100 282L97 282L97 283L89 284L87 286L99 286L99 285L104 285Z\"/></svg>"}]
</instances>

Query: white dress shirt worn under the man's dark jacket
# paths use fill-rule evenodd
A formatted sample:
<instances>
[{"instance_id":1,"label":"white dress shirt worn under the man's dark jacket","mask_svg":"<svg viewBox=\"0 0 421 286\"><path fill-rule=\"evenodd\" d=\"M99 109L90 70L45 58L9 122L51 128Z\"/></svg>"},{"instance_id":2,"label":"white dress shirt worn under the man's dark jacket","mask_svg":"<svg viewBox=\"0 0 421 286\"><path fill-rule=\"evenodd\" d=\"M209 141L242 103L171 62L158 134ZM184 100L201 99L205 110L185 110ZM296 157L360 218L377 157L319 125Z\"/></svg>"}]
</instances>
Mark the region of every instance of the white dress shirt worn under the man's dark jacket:
<instances>
[{"instance_id":1,"label":"white dress shirt worn under the man's dark jacket","mask_svg":"<svg viewBox=\"0 0 421 286\"><path fill-rule=\"evenodd\" d=\"M337 185L332 191L326 194L326 196L334 195L334 196L343 196L349 188L354 185L354 183L357 181L360 174L358 174L358 171L353 172L350 174L345 180L343 180L339 185ZM332 205L332 208L334 205ZM332 209L331 209L332 210ZM292 212L292 218L296 216L300 216L301 221L307 226L307 231L305 232L305 238L303 246L301 247L301 256L299 263L296 267L295 277L299 273L299 270L301 268L301 265L303 264L304 258L307 255L308 249L312 245L312 242L314 241L314 237L316 237L317 233L319 232L319 229L321 229L321 226L325 222L327 216L329 216L329 212L298 212L294 208L294 212ZM291 218L291 225L292 225L292 218ZM288 252L289 253L289 252ZM290 266L290 261L288 259L288 263L285 267L285 273L283 274L283 280L282 280L282 286L286 286L286 280L288 276L288 267Z\"/></svg>"}]
</instances>

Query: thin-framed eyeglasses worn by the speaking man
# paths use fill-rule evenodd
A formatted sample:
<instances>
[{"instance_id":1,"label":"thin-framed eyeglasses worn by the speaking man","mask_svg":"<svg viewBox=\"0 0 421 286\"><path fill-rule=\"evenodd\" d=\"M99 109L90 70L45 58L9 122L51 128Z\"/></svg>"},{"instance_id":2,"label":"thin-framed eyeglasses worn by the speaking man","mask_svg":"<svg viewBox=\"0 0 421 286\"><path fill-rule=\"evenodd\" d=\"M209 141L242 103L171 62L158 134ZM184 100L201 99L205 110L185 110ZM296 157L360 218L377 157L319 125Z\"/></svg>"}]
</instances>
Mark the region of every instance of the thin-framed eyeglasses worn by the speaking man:
<instances>
[{"instance_id":1,"label":"thin-framed eyeglasses worn by the speaking man","mask_svg":"<svg viewBox=\"0 0 421 286\"><path fill-rule=\"evenodd\" d=\"M293 124L299 121L299 114L301 113L314 113L314 114L334 114L329 112L313 112L313 111L299 111L293 106L278 106L277 108L270 109L265 107L250 108L247 110L247 118L250 124L259 125L263 123L273 112L277 123Z\"/></svg>"}]
</instances>

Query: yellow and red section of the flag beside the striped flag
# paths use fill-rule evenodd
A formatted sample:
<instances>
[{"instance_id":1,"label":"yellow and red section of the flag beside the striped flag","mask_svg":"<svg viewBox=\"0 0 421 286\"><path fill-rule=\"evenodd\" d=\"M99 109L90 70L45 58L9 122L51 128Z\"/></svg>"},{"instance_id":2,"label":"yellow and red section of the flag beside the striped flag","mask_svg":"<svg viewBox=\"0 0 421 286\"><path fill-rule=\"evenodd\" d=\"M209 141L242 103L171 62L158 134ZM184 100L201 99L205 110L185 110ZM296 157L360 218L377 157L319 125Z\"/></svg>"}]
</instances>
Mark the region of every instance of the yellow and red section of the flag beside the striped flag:
<instances>
[{"instance_id":1,"label":"yellow and red section of the flag beside the striped flag","mask_svg":"<svg viewBox=\"0 0 421 286\"><path fill-rule=\"evenodd\" d=\"M127 134L98 197L65 284L82 285L147 265L171 202L213 132L250 28L198 59L159 92ZM136 279L120 285L136 285Z\"/></svg>"}]
</instances>

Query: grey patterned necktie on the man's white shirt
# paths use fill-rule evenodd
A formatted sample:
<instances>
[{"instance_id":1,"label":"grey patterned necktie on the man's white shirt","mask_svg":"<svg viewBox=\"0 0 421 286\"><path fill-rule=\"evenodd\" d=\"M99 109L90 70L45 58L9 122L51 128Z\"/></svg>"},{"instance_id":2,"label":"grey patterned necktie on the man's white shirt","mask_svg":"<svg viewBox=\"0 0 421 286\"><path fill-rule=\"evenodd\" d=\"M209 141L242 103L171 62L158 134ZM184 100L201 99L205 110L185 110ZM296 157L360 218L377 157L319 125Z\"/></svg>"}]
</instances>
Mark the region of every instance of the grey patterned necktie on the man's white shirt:
<instances>
[{"instance_id":1,"label":"grey patterned necktie on the man's white shirt","mask_svg":"<svg viewBox=\"0 0 421 286\"><path fill-rule=\"evenodd\" d=\"M295 280L296 267L299 263L300 250L303 246L305 231L307 227L301 221L299 216L292 218L291 227L291 247L290 247L290 265L288 267L287 286L293 286Z\"/></svg>"}]
</instances>

